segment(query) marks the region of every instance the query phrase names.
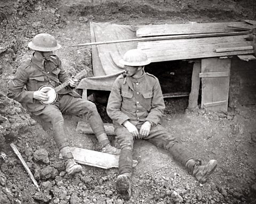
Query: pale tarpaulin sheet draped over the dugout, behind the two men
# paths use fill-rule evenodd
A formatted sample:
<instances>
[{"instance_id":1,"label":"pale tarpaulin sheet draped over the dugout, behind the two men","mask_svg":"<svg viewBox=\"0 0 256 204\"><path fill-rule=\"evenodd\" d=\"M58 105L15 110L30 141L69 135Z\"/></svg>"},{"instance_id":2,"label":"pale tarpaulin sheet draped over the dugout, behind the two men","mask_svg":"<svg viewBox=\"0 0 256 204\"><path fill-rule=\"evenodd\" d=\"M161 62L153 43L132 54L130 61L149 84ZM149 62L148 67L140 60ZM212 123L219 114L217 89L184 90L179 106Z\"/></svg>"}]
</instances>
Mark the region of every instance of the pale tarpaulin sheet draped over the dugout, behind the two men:
<instances>
[{"instance_id":1,"label":"pale tarpaulin sheet draped over the dugout, behind the two men","mask_svg":"<svg viewBox=\"0 0 256 204\"><path fill-rule=\"evenodd\" d=\"M106 42L114 40L134 39L136 30L131 25L111 23L90 23L91 41ZM112 84L119 74L123 73L119 64L127 50L137 48L137 41L92 45L93 77L84 78L78 89L111 90Z\"/></svg>"}]
</instances>

